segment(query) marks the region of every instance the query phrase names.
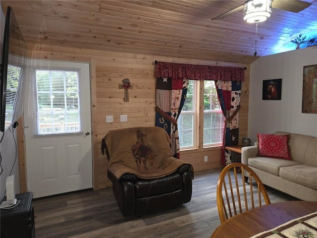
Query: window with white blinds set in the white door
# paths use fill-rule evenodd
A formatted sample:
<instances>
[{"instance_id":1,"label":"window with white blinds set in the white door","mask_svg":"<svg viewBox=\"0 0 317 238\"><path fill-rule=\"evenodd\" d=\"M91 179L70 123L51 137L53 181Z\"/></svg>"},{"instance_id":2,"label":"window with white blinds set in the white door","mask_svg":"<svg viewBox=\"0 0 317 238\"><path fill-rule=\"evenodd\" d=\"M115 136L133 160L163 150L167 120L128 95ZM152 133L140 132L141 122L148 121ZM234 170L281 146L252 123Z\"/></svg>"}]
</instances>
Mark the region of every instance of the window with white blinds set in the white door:
<instances>
[{"instance_id":1,"label":"window with white blinds set in the white door","mask_svg":"<svg viewBox=\"0 0 317 238\"><path fill-rule=\"evenodd\" d=\"M79 71L35 69L37 133L80 132Z\"/></svg>"}]
</instances>

